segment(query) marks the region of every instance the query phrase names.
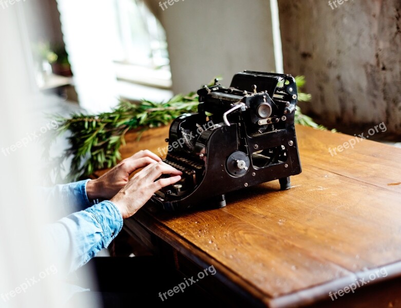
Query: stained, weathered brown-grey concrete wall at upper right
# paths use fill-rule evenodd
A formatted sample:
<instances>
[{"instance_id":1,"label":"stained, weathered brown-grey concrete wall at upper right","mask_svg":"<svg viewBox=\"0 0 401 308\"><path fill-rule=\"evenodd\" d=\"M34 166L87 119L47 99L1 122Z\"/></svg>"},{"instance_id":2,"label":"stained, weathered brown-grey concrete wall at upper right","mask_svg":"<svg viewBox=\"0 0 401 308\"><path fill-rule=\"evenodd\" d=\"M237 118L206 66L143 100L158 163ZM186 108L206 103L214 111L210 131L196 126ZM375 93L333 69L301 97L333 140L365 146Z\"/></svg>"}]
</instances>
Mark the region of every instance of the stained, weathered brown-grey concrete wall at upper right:
<instances>
[{"instance_id":1,"label":"stained, weathered brown-grey concrete wall at upper right","mask_svg":"<svg viewBox=\"0 0 401 308\"><path fill-rule=\"evenodd\" d=\"M303 112L360 132L385 122L401 134L401 1L279 0L284 71L306 76Z\"/></svg>"}]
</instances>

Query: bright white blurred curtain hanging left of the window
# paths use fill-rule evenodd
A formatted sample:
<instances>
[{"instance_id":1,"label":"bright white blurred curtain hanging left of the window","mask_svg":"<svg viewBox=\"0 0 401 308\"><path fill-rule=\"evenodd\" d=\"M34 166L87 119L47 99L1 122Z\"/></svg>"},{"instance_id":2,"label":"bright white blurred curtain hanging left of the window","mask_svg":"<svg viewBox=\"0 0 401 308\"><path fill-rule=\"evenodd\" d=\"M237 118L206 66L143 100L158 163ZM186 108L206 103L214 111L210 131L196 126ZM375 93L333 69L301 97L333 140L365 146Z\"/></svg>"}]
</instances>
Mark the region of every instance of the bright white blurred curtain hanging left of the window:
<instances>
[{"instance_id":1,"label":"bright white blurred curtain hanging left of the window","mask_svg":"<svg viewBox=\"0 0 401 308\"><path fill-rule=\"evenodd\" d=\"M92 112L118 104L113 46L114 1L57 0L66 50L80 105Z\"/></svg>"}]
</instances>

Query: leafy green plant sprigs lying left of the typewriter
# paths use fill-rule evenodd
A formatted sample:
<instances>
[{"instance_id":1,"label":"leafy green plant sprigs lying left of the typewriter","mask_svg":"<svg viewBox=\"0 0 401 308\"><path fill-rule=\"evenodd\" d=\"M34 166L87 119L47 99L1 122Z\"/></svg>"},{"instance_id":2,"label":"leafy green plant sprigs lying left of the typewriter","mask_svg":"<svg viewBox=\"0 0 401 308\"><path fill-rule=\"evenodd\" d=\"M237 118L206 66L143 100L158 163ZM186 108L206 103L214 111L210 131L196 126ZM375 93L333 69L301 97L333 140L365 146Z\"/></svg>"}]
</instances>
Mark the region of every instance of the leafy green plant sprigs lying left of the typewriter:
<instances>
[{"instance_id":1,"label":"leafy green plant sprigs lying left of the typewriter","mask_svg":"<svg viewBox=\"0 0 401 308\"><path fill-rule=\"evenodd\" d=\"M120 102L111 112L97 115L75 113L70 118L58 117L58 134L70 132L70 147L63 157L71 160L68 180L90 176L94 171L110 168L121 159L120 147L127 131L141 131L167 125L185 112L197 110L195 93L176 95L165 103L143 100L140 104Z\"/></svg>"}]
</instances>

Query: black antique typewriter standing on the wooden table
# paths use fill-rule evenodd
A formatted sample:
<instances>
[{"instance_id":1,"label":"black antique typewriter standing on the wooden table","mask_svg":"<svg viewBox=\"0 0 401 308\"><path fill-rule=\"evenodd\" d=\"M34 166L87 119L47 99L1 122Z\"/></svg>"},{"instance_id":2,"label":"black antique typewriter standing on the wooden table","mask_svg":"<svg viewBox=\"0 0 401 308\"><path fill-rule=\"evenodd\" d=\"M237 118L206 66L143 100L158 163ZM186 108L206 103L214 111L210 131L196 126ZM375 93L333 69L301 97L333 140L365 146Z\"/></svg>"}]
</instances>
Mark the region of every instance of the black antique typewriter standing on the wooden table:
<instances>
[{"instance_id":1,"label":"black antique typewriter standing on the wooden table","mask_svg":"<svg viewBox=\"0 0 401 308\"><path fill-rule=\"evenodd\" d=\"M198 91L198 112L170 126L165 163L182 171L180 182L151 200L166 210L225 206L225 194L279 180L291 188L300 174L294 114L297 86L291 75L244 71L230 87L215 80Z\"/></svg>"}]
</instances>

